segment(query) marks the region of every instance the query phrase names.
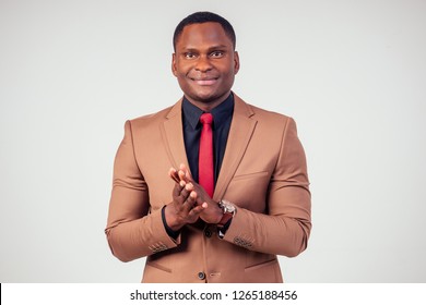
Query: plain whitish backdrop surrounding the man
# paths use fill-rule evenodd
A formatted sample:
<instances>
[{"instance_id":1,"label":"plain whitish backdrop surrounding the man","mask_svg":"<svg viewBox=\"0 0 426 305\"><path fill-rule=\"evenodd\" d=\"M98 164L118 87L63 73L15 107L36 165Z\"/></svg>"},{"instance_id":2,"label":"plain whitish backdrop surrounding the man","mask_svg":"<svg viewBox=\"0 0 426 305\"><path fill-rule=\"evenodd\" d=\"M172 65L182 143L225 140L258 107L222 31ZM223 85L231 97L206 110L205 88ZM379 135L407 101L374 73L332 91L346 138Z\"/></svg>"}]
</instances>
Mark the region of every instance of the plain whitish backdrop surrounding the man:
<instances>
[{"instance_id":1,"label":"plain whitish backdrop surrounding the man","mask_svg":"<svg viewBox=\"0 0 426 305\"><path fill-rule=\"evenodd\" d=\"M0 0L0 282L138 282L104 235L125 120L174 103L171 36L237 33L246 101L295 118L312 192L287 282L426 281L426 1Z\"/></svg>"}]
</instances>

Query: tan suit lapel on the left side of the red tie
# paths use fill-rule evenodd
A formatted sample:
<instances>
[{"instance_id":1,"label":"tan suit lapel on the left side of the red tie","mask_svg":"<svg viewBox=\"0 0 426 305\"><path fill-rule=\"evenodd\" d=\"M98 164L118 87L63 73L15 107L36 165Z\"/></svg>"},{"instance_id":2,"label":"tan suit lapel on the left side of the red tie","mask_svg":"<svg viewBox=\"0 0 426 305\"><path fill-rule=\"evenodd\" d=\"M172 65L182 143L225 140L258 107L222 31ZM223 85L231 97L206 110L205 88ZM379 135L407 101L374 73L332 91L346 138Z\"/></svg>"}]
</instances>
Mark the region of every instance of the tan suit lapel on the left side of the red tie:
<instances>
[{"instance_id":1,"label":"tan suit lapel on the left side of the red tie","mask_svg":"<svg viewBox=\"0 0 426 305\"><path fill-rule=\"evenodd\" d=\"M171 107L170 112L166 117L167 120L164 121L162 126L162 135L167 156L175 169L178 169L180 163L188 166L184 142L181 105L182 100L180 99Z\"/></svg>"}]
</instances>

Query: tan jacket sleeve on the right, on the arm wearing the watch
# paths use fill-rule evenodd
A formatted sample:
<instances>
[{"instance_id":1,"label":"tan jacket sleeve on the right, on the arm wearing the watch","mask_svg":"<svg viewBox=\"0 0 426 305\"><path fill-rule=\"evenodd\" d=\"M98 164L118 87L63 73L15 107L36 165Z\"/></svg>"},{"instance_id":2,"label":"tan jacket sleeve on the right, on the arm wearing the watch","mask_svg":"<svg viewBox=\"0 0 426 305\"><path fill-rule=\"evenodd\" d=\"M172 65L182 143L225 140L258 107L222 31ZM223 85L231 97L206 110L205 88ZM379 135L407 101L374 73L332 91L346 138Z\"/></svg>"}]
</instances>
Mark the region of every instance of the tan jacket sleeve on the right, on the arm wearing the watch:
<instances>
[{"instance_id":1,"label":"tan jacket sleeve on the right, on the arm wearing the watch","mask_svg":"<svg viewBox=\"0 0 426 305\"><path fill-rule=\"evenodd\" d=\"M224 240L250 251L296 256L307 247L310 205L305 151L297 137L296 123L288 118L269 183L268 213L237 208Z\"/></svg>"}]
</instances>

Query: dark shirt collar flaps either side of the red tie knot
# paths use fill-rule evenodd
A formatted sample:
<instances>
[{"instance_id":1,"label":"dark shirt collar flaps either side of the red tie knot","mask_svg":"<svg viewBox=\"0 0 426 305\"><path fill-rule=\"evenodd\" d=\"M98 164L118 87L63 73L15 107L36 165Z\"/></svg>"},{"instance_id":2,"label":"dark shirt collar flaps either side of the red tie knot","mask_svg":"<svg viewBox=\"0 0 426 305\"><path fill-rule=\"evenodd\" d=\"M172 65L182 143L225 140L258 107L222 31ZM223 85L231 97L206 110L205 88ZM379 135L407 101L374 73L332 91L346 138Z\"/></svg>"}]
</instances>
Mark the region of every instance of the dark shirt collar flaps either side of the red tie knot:
<instances>
[{"instance_id":1,"label":"dark shirt collar flaps either side of the red tie knot","mask_svg":"<svg viewBox=\"0 0 426 305\"><path fill-rule=\"evenodd\" d=\"M190 124L190 126L196 130L200 121L201 114L204 113L200 108L192 105L185 96L182 101L182 113L184 120ZM213 122L215 126L220 126L225 122L229 117L233 117L234 113L234 95L233 93L221 102L218 106L212 109Z\"/></svg>"}]
</instances>

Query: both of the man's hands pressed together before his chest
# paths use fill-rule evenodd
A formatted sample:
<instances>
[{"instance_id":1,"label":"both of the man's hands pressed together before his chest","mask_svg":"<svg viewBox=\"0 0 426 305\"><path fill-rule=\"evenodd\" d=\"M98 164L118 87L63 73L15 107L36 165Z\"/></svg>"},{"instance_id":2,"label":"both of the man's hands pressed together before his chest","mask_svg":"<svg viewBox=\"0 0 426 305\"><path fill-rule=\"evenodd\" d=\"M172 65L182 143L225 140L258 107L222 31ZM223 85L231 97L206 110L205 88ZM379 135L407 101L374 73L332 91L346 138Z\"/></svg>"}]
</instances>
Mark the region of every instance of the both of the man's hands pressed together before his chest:
<instances>
[{"instance_id":1,"label":"both of the man's hands pressed together before his chest","mask_svg":"<svg viewBox=\"0 0 426 305\"><path fill-rule=\"evenodd\" d=\"M173 190L173 202L166 206L165 217L167 225L180 230L187 223L193 223L201 218L206 223L218 223L223 212L204 188L193 181L185 164L179 170L170 169L170 179L176 184Z\"/></svg>"}]
</instances>

